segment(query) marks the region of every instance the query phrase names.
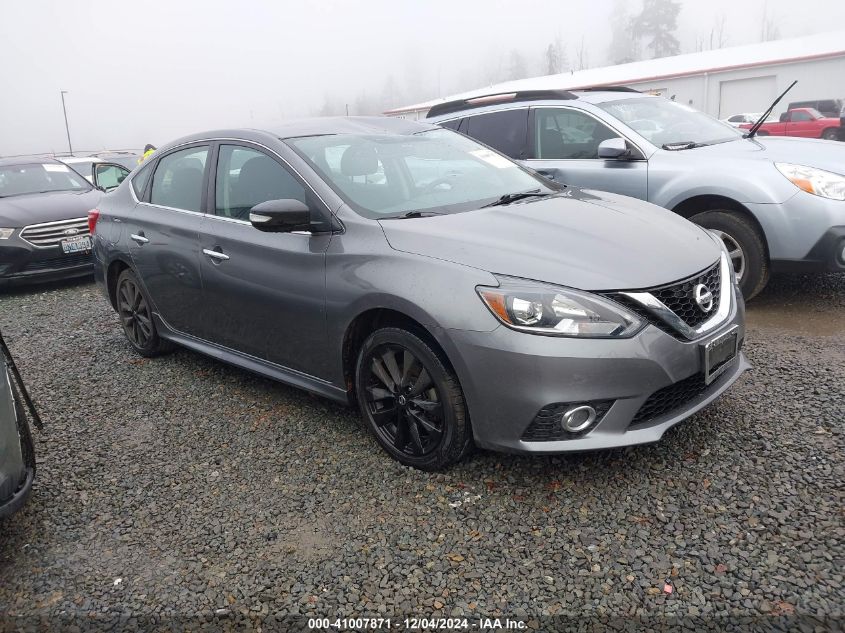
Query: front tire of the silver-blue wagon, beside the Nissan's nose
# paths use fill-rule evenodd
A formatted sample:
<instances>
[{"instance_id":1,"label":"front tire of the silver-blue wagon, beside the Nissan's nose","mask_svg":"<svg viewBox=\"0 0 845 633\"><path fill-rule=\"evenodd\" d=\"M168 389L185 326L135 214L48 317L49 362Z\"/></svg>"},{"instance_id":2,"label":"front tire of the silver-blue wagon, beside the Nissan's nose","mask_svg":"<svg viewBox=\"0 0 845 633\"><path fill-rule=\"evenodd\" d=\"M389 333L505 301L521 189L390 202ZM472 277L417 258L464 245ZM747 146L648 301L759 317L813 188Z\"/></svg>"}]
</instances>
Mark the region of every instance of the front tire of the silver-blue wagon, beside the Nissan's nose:
<instances>
[{"instance_id":1,"label":"front tire of the silver-blue wagon, beside the Nissan's nose","mask_svg":"<svg viewBox=\"0 0 845 633\"><path fill-rule=\"evenodd\" d=\"M738 247L738 257L731 261L742 296L748 301L759 294L769 281L769 260L757 227L744 215L727 210L705 211L690 220L719 235L729 252L736 253Z\"/></svg>"}]
</instances>

